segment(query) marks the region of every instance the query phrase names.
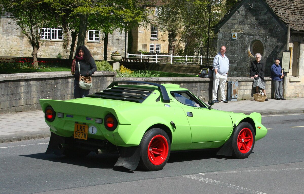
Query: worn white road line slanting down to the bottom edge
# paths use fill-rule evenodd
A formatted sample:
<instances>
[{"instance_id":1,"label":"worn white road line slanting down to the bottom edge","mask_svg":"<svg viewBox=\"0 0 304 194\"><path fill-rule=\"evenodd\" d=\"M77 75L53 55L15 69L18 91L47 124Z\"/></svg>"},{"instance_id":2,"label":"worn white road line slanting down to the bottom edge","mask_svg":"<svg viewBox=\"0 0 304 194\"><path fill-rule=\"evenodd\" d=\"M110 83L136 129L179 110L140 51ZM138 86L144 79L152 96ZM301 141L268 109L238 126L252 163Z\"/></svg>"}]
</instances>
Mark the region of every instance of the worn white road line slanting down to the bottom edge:
<instances>
[{"instance_id":1,"label":"worn white road line slanting down to the bottom edge","mask_svg":"<svg viewBox=\"0 0 304 194\"><path fill-rule=\"evenodd\" d=\"M247 189L247 188L244 188L244 187L240 187L240 186L237 186L237 185L231 185L231 184L226 183L226 182L220 182L220 181L216 181L216 180L213 180L213 179L207 179L207 178L204 178L204 177L199 177L199 176L194 176L194 175L183 175L183 177L186 177L186 178L189 178L189 179L194 179L194 180L201 181L201 182L213 183L213 184L219 185L219 186L230 187L230 188L236 189L236 190L242 190L241 191L242 193L244 192L244 193L250 193L250 194L266 194L266 193L263 193L263 192L254 191L254 190Z\"/></svg>"}]
</instances>

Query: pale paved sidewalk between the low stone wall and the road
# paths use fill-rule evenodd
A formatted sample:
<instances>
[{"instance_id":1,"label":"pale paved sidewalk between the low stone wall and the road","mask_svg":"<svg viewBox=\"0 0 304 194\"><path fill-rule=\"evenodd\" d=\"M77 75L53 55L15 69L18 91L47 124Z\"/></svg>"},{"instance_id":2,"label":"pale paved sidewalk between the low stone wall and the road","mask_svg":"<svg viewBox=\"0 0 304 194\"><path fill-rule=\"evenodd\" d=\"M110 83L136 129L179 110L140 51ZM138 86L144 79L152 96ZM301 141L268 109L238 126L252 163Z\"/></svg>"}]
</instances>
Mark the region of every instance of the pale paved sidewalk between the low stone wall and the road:
<instances>
[{"instance_id":1,"label":"pale paved sidewalk between the low stone wall and the road","mask_svg":"<svg viewBox=\"0 0 304 194\"><path fill-rule=\"evenodd\" d=\"M214 109L250 114L304 113L304 98L256 102L254 100L238 100L228 103L216 103ZM50 137L50 130L40 111L0 114L0 143Z\"/></svg>"}]
</instances>

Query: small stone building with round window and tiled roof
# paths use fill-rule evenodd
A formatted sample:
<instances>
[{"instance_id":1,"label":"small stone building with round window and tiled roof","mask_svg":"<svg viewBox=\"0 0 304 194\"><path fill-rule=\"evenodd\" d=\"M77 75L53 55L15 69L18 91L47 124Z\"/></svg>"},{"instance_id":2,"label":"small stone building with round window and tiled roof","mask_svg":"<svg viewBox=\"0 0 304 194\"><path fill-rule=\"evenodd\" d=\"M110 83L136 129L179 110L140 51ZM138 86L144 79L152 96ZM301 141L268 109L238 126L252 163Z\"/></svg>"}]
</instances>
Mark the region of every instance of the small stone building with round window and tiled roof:
<instances>
[{"instance_id":1,"label":"small stone building with round window and tiled roof","mask_svg":"<svg viewBox=\"0 0 304 194\"><path fill-rule=\"evenodd\" d=\"M303 5L303 0L238 1L214 26L218 48L227 47L229 76L249 77L250 63L261 53L270 77L273 60L284 54L284 96L304 97Z\"/></svg>"}]
</instances>

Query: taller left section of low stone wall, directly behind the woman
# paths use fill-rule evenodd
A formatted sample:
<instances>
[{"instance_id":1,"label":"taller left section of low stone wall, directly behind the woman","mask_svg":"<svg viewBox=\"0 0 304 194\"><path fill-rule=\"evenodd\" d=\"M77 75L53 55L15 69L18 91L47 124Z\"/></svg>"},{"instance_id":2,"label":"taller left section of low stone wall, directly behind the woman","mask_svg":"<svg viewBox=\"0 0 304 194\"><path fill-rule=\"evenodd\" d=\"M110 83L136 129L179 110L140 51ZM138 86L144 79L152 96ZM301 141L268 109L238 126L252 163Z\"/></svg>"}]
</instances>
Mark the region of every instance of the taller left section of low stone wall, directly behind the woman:
<instances>
[{"instance_id":1,"label":"taller left section of low stone wall, directly behind the woman","mask_svg":"<svg viewBox=\"0 0 304 194\"><path fill-rule=\"evenodd\" d=\"M116 72L98 71L91 93L104 90ZM0 75L0 113L40 110L39 99L68 100L73 97L74 77L70 72L39 72Z\"/></svg>"}]
</instances>

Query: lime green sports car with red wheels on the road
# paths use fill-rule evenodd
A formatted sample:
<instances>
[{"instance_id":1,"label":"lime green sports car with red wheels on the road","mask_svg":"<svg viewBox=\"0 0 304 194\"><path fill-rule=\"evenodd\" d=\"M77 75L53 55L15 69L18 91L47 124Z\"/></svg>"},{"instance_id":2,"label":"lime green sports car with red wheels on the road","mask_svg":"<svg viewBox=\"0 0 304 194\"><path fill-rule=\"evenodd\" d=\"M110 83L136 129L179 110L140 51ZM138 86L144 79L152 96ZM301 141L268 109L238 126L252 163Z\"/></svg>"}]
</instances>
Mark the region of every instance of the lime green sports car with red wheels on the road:
<instances>
[{"instance_id":1,"label":"lime green sports car with red wheels on the road","mask_svg":"<svg viewBox=\"0 0 304 194\"><path fill-rule=\"evenodd\" d=\"M115 166L131 170L160 170L171 151L247 158L267 133L261 114L215 110L177 84L116 81L84 98L40 104L51 131L46 154L116 153Z\"/></svg>"}]
</instances>

